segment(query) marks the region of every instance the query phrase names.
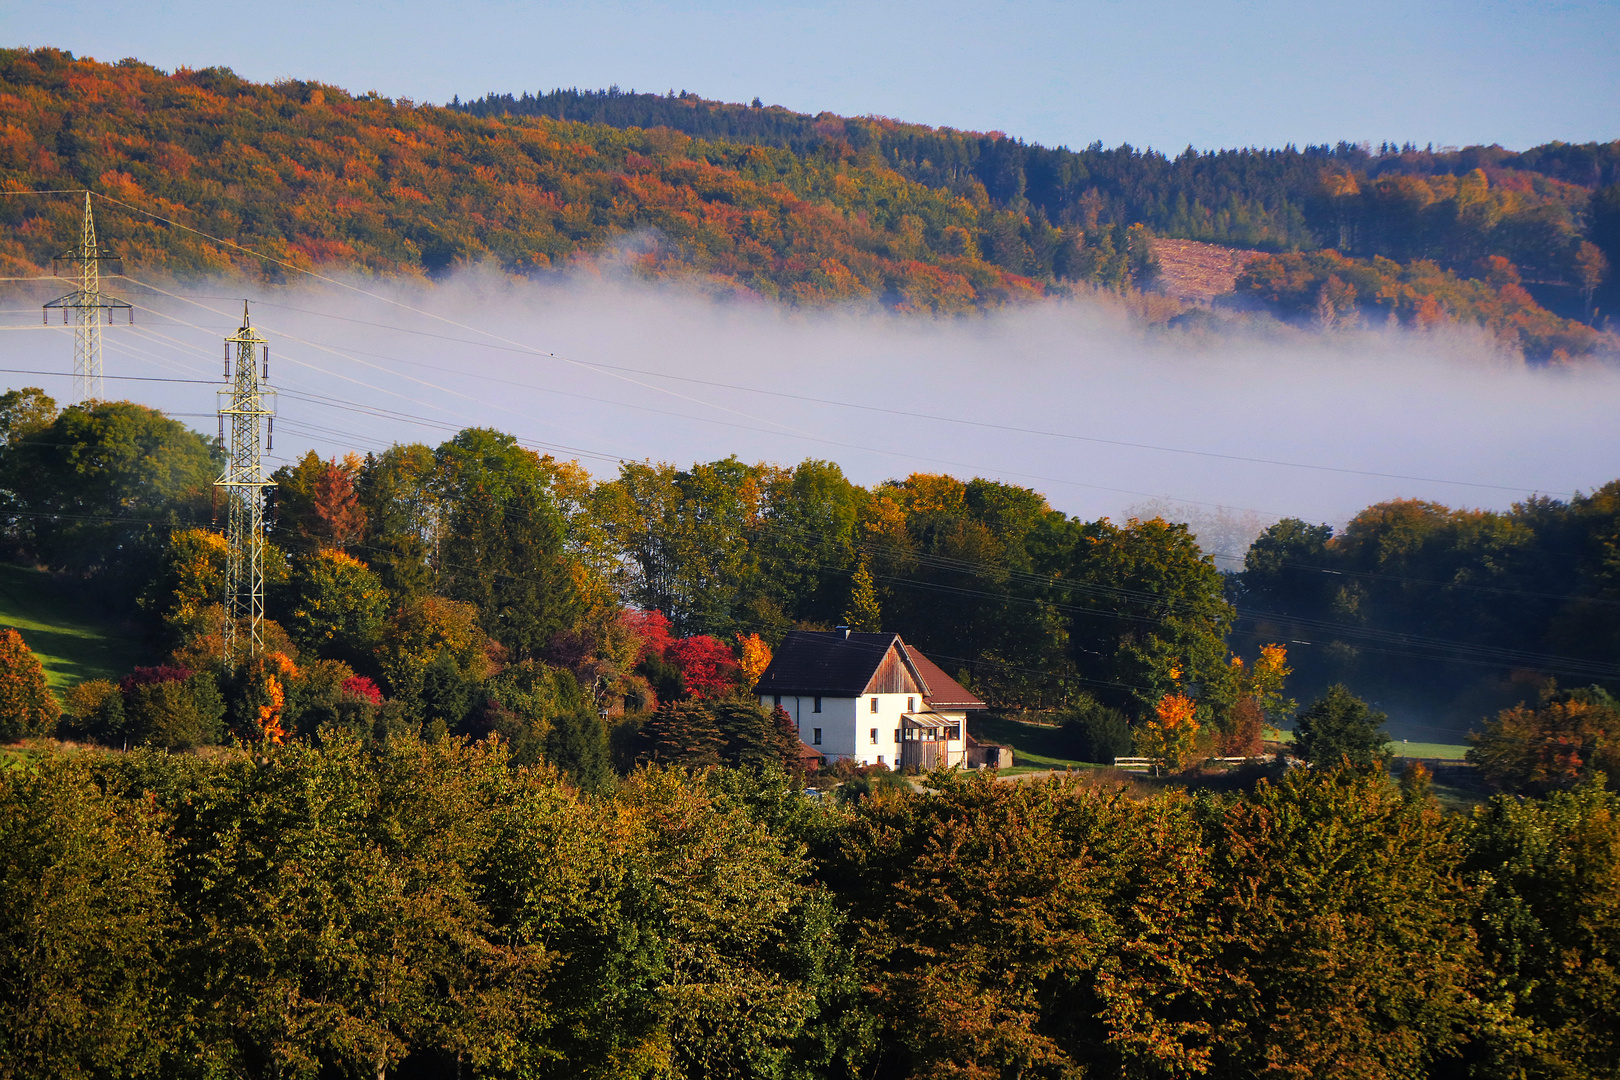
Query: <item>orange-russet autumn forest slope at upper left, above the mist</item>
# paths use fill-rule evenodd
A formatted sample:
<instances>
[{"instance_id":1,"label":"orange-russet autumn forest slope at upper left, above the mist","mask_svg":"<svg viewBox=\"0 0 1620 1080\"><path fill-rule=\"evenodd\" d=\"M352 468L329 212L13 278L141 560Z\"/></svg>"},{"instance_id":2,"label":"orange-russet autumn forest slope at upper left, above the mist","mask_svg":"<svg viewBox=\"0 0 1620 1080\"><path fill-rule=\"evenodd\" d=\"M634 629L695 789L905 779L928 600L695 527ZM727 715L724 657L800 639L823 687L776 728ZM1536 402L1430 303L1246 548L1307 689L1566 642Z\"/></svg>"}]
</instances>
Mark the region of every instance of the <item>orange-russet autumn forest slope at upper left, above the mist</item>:
<instances>
[{"instance_id":1,"label":"orange-russet autumn forest slope at upper left, above the mist","mask_svg":"<svg viewBox=\"0 0 1620 1080\"><path fill-rule=\"evenodd\" d=\"M0 183L87 180L298 267L436 274L492 259L535 272L635 233L645 243L622 254L633 274L701 274L794 304L962 311L1042 293L972 240L998 228L1016 238L1021 215L844 152L484 120L316 83L164 74L50 49L0 53ZM49 134L65 126L75 139ZM16 202L0 207L10 225L0 266L45 266L71 207ZM97 220L130 266L264 270L123 207Z\"/></svg>"}]
</instances>

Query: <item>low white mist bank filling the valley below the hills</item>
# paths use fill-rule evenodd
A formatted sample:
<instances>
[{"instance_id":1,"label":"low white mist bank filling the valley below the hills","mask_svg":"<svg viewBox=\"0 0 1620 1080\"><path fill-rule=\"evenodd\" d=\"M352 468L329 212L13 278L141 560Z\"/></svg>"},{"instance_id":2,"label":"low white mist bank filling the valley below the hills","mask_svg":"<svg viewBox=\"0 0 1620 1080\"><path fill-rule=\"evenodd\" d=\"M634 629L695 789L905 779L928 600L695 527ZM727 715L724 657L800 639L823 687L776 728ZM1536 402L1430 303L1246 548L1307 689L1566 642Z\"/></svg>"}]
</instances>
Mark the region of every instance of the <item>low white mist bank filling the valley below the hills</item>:
<instances>
[{"instance_id":1,"label":"low white mist bank filling the valley below the hills","mask_svg":"<svg viewBox=\"0 0 1620 1080\"><path fill-rule=\"evenodd\" d=\"M1500 508L1620 474L1620 372L1531 369L1468 330L1181 332L1108 300L804 313L583 272L352 282L374 296L160 285L175 296L112 285L141 309L107 330L107 374L217 379L230 298L253 298L282 392L272 466L489 426L599 476L735 453L829 458L862 484L998 478L1087 518L1204 521L1226 555L1278 517L1338 523L1395 497ZM6 368L70 368L65 334L6 343ZM66 379L6 379L68 397ZM209 385L109 381L107 395L214 431Z\"/></svg>"}]
</instances>

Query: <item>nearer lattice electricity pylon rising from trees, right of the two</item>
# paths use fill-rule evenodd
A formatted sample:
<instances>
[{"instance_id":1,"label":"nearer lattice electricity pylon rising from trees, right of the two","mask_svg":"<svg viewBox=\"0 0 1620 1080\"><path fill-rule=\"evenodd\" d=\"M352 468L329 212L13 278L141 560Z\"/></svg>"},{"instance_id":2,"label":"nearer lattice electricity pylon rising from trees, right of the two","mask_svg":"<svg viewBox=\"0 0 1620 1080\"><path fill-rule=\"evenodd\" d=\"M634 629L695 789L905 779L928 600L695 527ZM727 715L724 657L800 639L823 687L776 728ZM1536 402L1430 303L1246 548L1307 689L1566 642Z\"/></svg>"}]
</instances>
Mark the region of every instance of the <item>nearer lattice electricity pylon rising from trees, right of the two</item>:
<instances>
[{"instance_id":1,"label":"nearer lattice electricity pylon rising from trees, right of the two","mask_svg":"<svg viewBox=\"0 0 1620 1080\"><path fill-rule=\"evenodd\" d=\"M232 347L235 345L237 374L232 377ZM225 563L225 657L235 661L246 648L248 657L264 651L264 492L274 487L264 476L261 457L261 429L267 436L262 449L275 437L275 410L266 397L275 390L261 384L259 359L254 347L264 350L264 379L271 377L271 347L248 321L248 301L241 301L241 329L225 338L225 377L230 385L219 393L230 395L230 403L219 410L219 440L228 460L225 471L214 481L225 489L228 525L225 538L230 552ZM225 418L230 418L230 444L225 444ZM261 421L262 426L261 426ZM246 640L238 640L246 633Z\"/></svg>"}]
</instances>

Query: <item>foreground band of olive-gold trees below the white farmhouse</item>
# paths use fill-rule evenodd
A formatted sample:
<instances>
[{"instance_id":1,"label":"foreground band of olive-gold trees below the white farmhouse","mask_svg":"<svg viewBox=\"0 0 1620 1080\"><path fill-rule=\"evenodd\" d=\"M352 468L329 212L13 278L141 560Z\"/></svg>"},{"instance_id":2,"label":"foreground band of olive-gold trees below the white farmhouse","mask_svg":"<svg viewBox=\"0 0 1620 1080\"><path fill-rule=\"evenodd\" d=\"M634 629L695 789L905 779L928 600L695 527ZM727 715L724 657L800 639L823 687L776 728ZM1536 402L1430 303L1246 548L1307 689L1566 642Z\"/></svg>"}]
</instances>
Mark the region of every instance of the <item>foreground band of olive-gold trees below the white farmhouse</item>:
<instances>
[{"instance_id":1,"label":"foreground band of olive-gold trees below the white farmhouse","mask_svg":"<svg viewBox=\"0 0 1620 1080\"><path fill-rule=\"evenodd\" d=\"M345 737L6 771L0 1075L1615 1075L1614 793L930 785Z\"/></svg>"}]
</instances>

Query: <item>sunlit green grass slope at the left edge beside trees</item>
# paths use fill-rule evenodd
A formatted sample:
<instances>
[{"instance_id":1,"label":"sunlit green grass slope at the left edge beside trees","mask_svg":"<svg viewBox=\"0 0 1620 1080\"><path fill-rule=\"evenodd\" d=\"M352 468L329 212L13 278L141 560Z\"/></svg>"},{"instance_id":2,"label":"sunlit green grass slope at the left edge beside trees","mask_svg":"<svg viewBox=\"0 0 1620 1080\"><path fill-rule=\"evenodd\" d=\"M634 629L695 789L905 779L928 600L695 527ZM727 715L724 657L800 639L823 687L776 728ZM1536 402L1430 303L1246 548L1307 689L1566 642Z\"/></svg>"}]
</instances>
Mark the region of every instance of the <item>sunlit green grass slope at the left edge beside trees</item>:
<instances>
[{"instance_id":1,"label":"sunlit green grass slope at the left edge beside trees","mask_svg":"<svg viewBox=\"0 0 1620 1080\"><path fill-rule=\"evenodd\" d=\"M0 627L23 635L57 693L86 678L120 678L146 659L134 635L40 570L0 563Z\"/></svg>"}]
</instances>

